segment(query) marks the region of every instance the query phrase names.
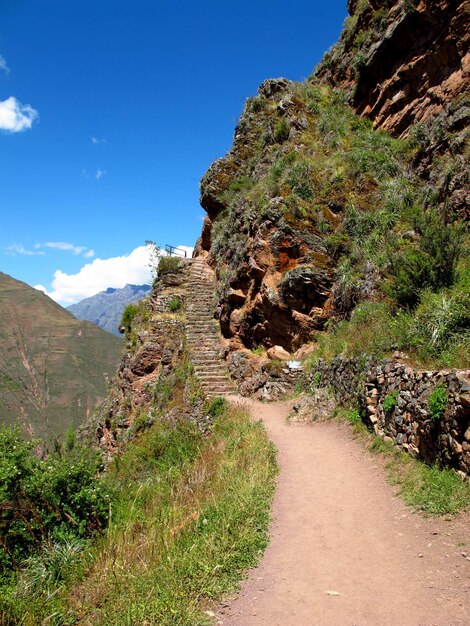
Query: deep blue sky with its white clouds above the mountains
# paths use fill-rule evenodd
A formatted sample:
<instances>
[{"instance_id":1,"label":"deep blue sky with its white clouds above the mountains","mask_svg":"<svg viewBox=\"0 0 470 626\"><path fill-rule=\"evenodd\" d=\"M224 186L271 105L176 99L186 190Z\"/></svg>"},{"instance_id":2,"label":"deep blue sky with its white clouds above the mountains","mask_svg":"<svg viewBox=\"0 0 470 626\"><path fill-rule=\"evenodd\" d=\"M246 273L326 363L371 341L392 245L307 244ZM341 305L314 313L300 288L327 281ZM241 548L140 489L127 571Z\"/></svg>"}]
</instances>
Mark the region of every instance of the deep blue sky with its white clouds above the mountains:
<instances>
[{"instance_id":1,"label":"deep blue sky with its white clouds above the mountains","mask_svg":"<svg viewBox=\"0 0 470 626\"><path fill-rule=\"evenodd\" d=\"M307 77L345 5L1 0L0 270L69 304L192 246L245 99Z\"/></svg>"}]
</instances>

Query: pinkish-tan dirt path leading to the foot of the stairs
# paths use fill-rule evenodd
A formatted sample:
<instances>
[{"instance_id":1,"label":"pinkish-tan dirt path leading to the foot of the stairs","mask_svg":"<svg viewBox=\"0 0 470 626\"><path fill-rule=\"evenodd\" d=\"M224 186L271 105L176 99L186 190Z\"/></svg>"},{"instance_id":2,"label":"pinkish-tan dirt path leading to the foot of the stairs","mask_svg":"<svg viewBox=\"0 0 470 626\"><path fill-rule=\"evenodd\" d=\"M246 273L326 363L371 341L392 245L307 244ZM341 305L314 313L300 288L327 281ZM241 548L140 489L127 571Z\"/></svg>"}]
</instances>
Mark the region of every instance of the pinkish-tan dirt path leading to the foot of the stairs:
<instances>
[{"instance_id":1,"label":"pinkish-tan dirt path leading to the foot of the stairs","mask_svg":"<svg viewBox=\"0 0 470 626\"><path fill-rule=\"evenodd\" d=\"M274 523L260 566L217 623L470 625L469 516L412 513L349 425L289 425L287 403L249 404L279 451Z\"/></svg>"}]
</instances>

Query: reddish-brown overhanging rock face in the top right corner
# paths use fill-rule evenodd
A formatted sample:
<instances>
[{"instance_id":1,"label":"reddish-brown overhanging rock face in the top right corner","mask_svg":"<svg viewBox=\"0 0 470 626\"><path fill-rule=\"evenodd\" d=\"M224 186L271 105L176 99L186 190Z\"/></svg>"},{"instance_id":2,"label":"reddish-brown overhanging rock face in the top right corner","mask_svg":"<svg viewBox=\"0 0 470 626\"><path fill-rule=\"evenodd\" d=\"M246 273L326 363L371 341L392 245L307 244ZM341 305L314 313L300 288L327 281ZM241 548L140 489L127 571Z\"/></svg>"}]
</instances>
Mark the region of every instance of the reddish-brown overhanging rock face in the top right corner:
<instances>
[{"instance_id":1,"label":"reddish-brown overhanging rock face in the top right corner","mask_svg":"<svg viewBox=\"0 0 470 626\"><path fill-rule=\"evenodd\" d=\"M375 126L407 133L468 91L468 2L350 0L348 11L340 41L315 75L348 89Z\"/></svg>"}]
</instances>

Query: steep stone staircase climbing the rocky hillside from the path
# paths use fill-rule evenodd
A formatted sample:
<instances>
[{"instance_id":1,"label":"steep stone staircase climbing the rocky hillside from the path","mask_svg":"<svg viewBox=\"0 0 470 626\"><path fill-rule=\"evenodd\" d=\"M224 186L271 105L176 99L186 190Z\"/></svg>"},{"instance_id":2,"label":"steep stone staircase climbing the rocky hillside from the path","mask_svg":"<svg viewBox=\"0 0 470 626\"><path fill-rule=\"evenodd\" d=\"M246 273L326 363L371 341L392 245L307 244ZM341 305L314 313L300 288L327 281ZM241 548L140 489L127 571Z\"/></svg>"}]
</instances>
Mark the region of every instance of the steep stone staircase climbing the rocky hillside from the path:
<instances>
[{"instance_id":1,"label":"steep stone staircase climbing the rocky hillside from the path","mask_svg":"<svg viewBox=\"0 0 470 626\"><path fill-rule=\"evenodd\" d=\"M221 336L214 320L215 281L204 259L191 260L186 295L186 339L196 378L209 396L235 393L222 358Z\"/></svg>"}]
</instances>

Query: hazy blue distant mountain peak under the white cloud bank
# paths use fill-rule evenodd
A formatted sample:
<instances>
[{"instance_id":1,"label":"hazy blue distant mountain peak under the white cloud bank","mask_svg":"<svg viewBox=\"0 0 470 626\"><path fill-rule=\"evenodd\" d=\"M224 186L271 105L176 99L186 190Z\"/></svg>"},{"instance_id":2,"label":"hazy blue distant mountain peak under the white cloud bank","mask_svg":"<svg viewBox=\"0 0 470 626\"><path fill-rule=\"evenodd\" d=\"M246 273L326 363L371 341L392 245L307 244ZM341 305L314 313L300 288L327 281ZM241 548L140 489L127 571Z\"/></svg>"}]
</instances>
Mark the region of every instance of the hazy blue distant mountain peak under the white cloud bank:
<instances>
[{"instance_id":1,"label":"hazy blue distant mountain peak under the white cloud bank","mask_svg":"<svg viewBox=\"0 0 470 626\"><path fill-rule=\"evenodd\" d=\"M67 308L77 319L93 322L119 336L118 327L125 307L148 296L150 290L150 285L126 285L122 289L109 287Z\"/></svg>"}]
</instances>

